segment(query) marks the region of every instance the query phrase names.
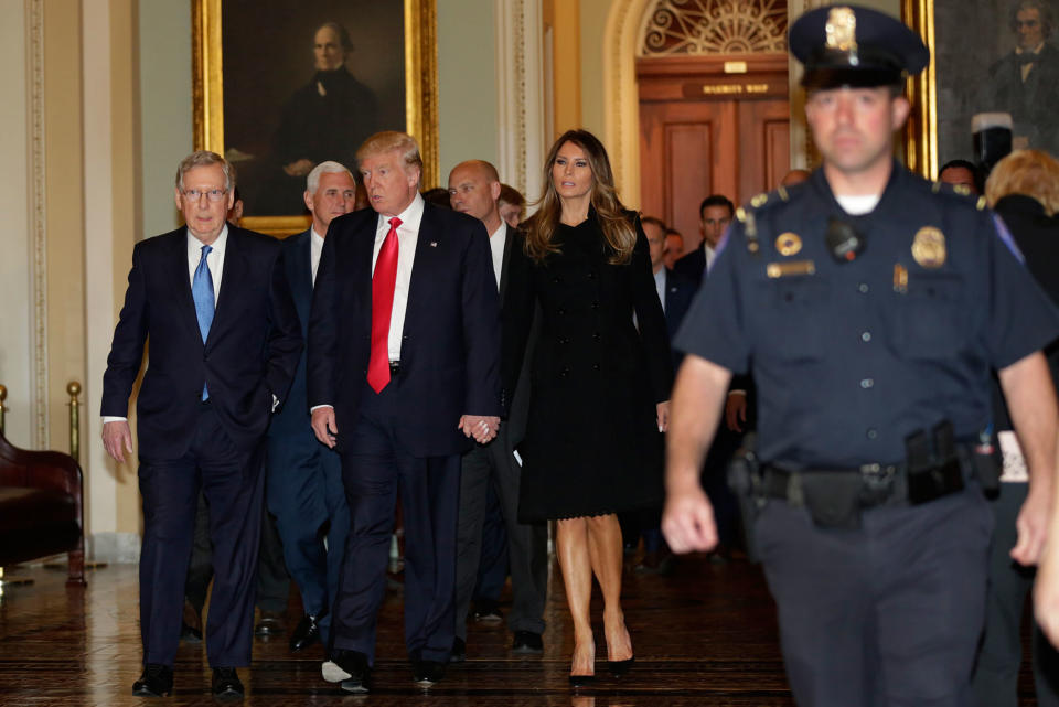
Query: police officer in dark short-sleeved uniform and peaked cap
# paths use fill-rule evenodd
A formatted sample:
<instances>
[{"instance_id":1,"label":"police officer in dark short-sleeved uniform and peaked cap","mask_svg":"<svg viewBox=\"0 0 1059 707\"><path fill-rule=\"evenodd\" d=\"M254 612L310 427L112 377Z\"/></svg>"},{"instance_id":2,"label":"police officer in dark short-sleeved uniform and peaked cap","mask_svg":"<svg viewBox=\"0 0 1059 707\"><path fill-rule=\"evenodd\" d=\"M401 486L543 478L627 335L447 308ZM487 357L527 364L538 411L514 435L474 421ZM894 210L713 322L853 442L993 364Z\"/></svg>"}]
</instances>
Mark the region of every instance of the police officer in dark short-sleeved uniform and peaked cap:
<instances>
[{"instance_id":1,"label":"police officer in dark short-sleeved uniform and peaked cap","mask_svg":"<svg viewBox=\"0 0 1059 707\"><path fill-rule=\"evenodd\" d=\"M758 386L757 549L799 705L969 705L992 519L990 372L1033 482L1012 550L1040 553L1059 313L988 211L892 158L930 55L852 6L790 30L823 165L740 210L675 345L663 531L709 549L698 470L731 375ZM751 459L753 461L753 459Z\"/></svg>"}]
</instances>

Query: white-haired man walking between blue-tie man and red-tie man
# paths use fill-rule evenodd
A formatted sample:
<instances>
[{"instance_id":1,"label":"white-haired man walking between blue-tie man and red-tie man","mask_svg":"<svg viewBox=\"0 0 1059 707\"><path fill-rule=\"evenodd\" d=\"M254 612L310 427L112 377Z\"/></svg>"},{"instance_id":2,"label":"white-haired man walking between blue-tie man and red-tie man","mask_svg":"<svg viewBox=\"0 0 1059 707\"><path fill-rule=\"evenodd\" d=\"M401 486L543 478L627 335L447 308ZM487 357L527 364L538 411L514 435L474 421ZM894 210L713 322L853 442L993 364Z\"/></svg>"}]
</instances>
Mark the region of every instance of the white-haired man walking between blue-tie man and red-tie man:
<instances>
[{"instance_id":1,"label":"white-haired man walking between blue-tie man and red-tie man","mask_svg":"<svg viewBox=\"0 0 1059 707\"><path fill-rule=\"evenodd\" d=\"M312 225L284 242L287 281L304 336L328 226L353 211L355 197L356 182L342 164L321 162L309 172L303 199ZM306 611L290 636L290 650L297 652L328 638L350 529L341 461L317 440L309 424L304 356L298 362L287 405L268 429L267 468L266 502L276 516L284 559Z\"/></svg>"}]
</instances>

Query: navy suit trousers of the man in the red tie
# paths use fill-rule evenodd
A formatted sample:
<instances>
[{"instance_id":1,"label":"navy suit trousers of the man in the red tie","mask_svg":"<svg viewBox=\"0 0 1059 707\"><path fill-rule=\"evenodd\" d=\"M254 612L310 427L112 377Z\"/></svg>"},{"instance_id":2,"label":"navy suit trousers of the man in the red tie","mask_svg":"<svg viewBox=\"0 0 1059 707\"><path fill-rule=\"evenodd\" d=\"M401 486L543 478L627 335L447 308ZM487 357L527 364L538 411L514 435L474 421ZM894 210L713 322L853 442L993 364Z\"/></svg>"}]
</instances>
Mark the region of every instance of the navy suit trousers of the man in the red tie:
<instances>
[{"instance_id":1,"label":"navy suit trousers of the man in the red tie","mask_svg":"<svg viewBox=\"0 0 1059 707\"><path fill-rule=\"evenodd\" d=\"M389 538L400 495L405 526L405 645L411 660L447 662L456 612L459 454L413 457L400 443L399 374L376 394L367 384L356 419L335 420L350 535L331 619L331 646L375 662L378 609L386 593ZM452 420L452 427L459 420Z\"/></svg>"}]
</instances>

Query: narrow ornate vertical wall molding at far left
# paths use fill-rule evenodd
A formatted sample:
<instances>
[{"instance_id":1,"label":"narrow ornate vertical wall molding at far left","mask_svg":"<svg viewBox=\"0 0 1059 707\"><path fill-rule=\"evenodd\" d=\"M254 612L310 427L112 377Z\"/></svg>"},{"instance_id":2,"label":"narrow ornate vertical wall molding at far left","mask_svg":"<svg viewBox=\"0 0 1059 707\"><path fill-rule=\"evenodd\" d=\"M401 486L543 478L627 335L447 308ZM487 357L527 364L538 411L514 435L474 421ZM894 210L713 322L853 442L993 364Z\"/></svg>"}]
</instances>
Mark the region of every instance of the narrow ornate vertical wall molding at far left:
<instances>
[{"instance_id":1,"label":"narrow ornate vertical wall molding at far left","mask_svg":"<svg viewBox=\"0 0 1059 707\"><path fill-rule=\"evenodd\" d=\"M34 449L50 447L47 430L47 216L44 136L44 0L28 0L29 35L29 124L30 124L30 292L32 298L33 344L30 400L31 443Z\"/></svg>"}]
</instances>

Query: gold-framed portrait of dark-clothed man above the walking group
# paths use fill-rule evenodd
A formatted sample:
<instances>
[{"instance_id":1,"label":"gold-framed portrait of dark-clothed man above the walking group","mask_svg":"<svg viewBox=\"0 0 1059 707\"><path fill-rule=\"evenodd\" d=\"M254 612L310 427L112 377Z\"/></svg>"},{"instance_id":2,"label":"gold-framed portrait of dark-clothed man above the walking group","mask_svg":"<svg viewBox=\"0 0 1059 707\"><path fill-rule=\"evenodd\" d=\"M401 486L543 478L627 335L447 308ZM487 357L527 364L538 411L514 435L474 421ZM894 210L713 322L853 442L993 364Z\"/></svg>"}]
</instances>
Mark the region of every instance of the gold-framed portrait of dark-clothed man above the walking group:
<instances>
[{"instance_id":1,"label":"gold-framed portrait of dark-clothed man above the walking group","mask_svg":"<svg viewBox=\"0 0 1059 707\"><path fill-rule=\"evenodd\" d=\"M355 171L378 130L415 136L437 183L435 3L192 0L195 149L235 165L245 227L304 229L309 171Z\"/></svg>"}]
</instances>

